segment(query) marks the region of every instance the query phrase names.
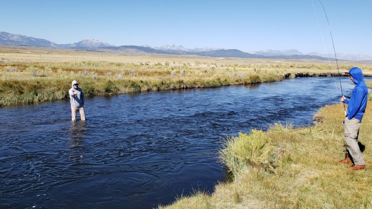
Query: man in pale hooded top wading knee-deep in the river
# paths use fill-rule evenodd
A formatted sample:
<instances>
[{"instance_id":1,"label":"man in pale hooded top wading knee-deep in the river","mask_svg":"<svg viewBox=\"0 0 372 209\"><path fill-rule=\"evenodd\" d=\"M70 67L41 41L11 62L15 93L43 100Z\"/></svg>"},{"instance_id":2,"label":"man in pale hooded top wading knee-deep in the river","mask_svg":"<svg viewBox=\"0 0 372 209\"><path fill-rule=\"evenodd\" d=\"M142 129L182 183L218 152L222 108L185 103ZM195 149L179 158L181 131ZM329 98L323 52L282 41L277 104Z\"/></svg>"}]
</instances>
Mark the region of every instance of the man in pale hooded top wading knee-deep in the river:
<instances>
[{"instance_id":1,"label":"man in pale hooded top wading knee-deep in the river","mask_svg":"<svg viewBox=\"0 0 372 209\"><path fill-rule=\"evenodd\" d=\"M80 113L81 121L85 121L84 94L83 90L79 88L78 85L79 83L77 81L72 81L72 88L69 90L72 121L76 121L77 111Z\"/></svg>"}]
</instances>

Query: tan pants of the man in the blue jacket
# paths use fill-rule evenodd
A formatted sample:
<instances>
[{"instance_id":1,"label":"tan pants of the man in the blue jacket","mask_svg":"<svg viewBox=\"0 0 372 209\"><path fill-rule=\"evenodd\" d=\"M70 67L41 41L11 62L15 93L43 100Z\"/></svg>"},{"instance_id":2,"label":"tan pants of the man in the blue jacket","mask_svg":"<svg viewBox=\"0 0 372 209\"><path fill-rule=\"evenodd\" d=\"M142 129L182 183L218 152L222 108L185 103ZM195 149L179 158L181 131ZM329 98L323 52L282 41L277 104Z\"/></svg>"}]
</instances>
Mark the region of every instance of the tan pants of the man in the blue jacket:
<instances>
[{"instance_id":1,"label":"tan pants of the man in the blue jacket","mask_svg":"<svg viewBox=\"0 0 372 209\"><path fill-rule=\"evenodd\" d=\"M345 118L344 133L346 149L352 155L355 165L365 165L363 154L358 145L360 124L358 119L352 118L352 120L349 120L347 117Z\"/></svg>"}]
</instances>

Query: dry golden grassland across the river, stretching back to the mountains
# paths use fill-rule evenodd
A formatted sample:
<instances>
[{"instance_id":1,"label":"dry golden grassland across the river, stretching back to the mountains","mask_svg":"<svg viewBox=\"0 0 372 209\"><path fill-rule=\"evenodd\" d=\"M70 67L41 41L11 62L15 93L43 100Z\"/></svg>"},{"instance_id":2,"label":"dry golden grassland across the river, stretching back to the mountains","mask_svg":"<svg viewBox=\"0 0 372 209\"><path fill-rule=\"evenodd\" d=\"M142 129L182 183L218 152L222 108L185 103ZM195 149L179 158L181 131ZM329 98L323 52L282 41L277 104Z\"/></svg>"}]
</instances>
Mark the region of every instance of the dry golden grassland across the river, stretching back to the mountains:
<instances>
[{"instance_id":1,"label":"dry golden grassland across the river, stretching back to the mountains","mask_svg":"<svg viewBox=\"0 0 372 209\"><path fill-rule=\"evenodd\" d=\"M340 62L340 73L372 63ZM0 106L68 99L77 80L86 97L140 91L271 82L295 73L337 73L335 62L114 54L42 47L0 47Z\"/></svg>"}]
</instances>

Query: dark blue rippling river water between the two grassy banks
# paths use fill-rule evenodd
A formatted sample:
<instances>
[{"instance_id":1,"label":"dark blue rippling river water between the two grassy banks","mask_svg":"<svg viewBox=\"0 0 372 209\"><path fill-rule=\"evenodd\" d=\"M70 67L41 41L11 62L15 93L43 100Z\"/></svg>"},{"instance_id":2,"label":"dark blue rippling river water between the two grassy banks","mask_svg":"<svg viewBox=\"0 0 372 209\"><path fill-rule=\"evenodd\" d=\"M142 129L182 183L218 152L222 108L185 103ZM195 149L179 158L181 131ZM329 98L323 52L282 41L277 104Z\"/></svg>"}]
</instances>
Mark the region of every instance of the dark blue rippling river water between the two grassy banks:
<instances>
[{"instance_id":1,"label":"dark blue rippling river water between the two grassy banks","mask_svg":"<svg viewBox=\"0 0 372 209\"><path fill-rule=\"evenodd\" d=\"M344 94L354 85L342 78ZM336 103L333 78L147 92L0 109L0 207L151 208L212 192L222 138L269 124L312 124ZM340 110L342 111L342 110Z\"/></svg>"}]
</instances>

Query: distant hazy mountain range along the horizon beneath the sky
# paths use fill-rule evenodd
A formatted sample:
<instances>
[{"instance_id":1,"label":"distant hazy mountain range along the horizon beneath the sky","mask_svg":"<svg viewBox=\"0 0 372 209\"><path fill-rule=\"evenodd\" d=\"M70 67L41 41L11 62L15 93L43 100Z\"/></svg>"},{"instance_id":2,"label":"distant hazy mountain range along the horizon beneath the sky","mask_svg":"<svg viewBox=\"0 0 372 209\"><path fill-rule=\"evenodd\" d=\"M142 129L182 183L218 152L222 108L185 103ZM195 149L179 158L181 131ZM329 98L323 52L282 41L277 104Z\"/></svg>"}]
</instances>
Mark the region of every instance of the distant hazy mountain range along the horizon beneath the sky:
<instances>
[{"instance_id":1,"label":"distant hazy mountain range along the horizon beneath the sky","mask_svg":"<svg viewBox=\"0 0 372 209\"><path fill-rule=\"evenodd\" d=\"M319 59L334 60L334 54L325 55L317 52L302 54L298 50L261 50L255 52L243 52L236 49L222 48L194 48L187 49L182 45L165 45L162 47L150 47L149 45L110 45L97 39L85 39L76 43L57 44L52 41L0 32L0 44L24 45L33 47L65 48L98 52L117 52L127 54L176 54L176 55L199 55L209 57L239 57L239 58L275 58L275 59ZM372 56L356 54L337 54L338 60L372 61Z\"/></svg>"}]
</instances>

